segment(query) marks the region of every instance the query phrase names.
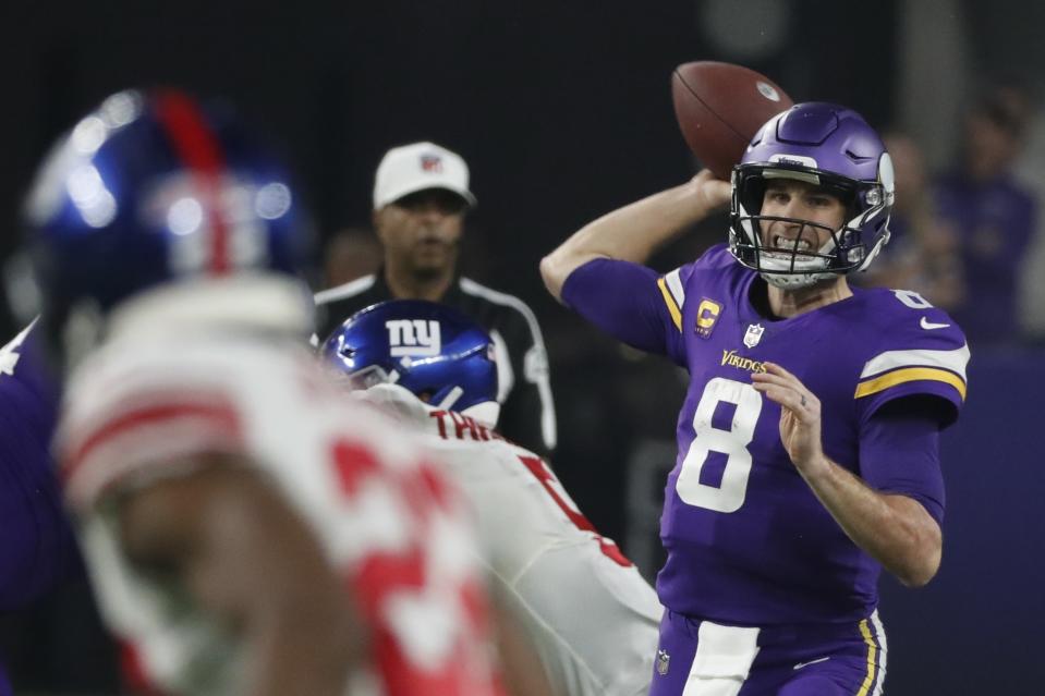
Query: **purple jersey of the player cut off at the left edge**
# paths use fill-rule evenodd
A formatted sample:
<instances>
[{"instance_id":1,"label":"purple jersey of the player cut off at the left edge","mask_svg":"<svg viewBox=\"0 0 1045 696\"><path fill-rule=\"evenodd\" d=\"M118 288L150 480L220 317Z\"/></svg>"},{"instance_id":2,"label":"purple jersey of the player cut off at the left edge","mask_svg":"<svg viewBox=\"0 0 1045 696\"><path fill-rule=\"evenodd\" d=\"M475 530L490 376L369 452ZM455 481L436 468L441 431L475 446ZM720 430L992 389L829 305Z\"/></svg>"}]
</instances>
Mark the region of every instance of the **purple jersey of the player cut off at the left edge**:
<instances>
[{"instance_id":1,"label":"purple jersey of the player cut off at the left edge","mask_svg":"<svg viewBox=\"0 0 1045 696\"><path fill-rule=\"evenodd\" d=\"M50 456L58 394L31 328L0 349L0 609L49 589L75 559Z\"/></svg>"}]
</instances>

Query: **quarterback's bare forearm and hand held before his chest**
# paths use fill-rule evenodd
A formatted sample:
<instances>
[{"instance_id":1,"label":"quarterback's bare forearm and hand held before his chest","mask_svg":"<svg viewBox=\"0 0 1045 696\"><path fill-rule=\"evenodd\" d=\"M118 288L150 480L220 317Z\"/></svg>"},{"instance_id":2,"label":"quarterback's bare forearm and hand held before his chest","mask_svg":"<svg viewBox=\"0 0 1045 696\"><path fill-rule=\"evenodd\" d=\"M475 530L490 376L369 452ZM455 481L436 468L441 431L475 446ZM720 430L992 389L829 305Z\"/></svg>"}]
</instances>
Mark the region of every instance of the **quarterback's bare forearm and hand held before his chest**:
<instances>
[{"instance_id":1,"label":"quarterback's bare forearm and hand held before his chest","mask_svg":"<svg viewBox=\"0 0 1045 696\"><path fill-rule=\"evenodd\" d=\"M752 376L754 388L780 404L780 439L813 493L849 538L901 583L928 583L943 553L938 521L913 497L875 490L833 462L822 447L819 400L779 365L766 368ZM932 424L926 427L935 432Z\"/></svg>"}]
</instances>

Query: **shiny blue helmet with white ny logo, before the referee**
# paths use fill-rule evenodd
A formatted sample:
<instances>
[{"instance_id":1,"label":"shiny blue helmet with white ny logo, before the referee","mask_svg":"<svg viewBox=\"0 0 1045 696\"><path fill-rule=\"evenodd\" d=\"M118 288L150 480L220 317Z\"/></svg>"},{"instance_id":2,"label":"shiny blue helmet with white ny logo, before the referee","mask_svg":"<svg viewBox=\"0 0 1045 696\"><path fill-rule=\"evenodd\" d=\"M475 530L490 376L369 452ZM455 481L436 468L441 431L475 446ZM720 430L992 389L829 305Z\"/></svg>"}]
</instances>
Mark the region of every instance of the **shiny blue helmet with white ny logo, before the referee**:
<instances>
[{"instance_id":1,"label":"shiny blue helmet with white ny logo, before the referee","mask_svg":"<svg viewBox=\"0 0 1045 696\"><path fill-rule=\"evenodd\" d=\"M394 382L433 406L497 423L494 343L446 305L423 300L372 305L349 317L320 352L356 388Z\"/></svg>"}]
</instances>

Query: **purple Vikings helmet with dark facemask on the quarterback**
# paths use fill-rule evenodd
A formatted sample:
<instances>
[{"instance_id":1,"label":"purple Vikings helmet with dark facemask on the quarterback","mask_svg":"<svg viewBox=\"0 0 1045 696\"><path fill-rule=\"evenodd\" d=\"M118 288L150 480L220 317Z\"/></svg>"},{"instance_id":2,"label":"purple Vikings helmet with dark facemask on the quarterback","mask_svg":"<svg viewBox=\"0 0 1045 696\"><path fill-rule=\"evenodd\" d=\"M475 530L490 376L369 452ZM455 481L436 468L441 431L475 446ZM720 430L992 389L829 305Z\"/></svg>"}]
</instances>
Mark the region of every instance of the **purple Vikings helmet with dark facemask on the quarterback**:
<instances>
[{"instance_id":1,"label":"purple Vikings helmet with dark facemask on the quarterback","mask_svg":"<svg viewBox=\"0 0 1045 696\"><path fill-rule=\"evenodd\" d=\"M846 221L821 248L767 246L762 222L805 220L762 216L766 180L795 179L822 186L847 205ZM895 198L892 160L878 134L851 109L799 103L770 119L733 168L729 249L742 265L780 288L801 288L864 270L889 241ZM807 239L807 237L806 237Z\"/></svg>"}]
</instances>

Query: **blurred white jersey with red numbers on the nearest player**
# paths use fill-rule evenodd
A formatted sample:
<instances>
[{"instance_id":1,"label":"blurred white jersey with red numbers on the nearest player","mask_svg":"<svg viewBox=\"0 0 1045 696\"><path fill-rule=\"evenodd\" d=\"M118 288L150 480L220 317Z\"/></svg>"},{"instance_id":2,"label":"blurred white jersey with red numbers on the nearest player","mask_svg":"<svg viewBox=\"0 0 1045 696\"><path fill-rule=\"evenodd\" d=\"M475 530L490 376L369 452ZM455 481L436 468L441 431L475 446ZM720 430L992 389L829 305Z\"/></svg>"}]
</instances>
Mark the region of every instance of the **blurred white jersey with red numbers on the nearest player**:
<instances>
[{"instance_id":1,"label":"blurred white jersey with red numbers on the nearest player","mask_svg":"<svg viewBox=\"0 0 1045 696\"><path fill-rule=\"evenodd\" d=\"M496 693L466 505L414 439L345 399L304 346L111 343L76 370L57 445L105 619L165 693L239 693L241 646L183 587L127 562L116 500L212 452L246 455L343 573L367 623L367 693Z\"/></svg>"}]
</instances>

